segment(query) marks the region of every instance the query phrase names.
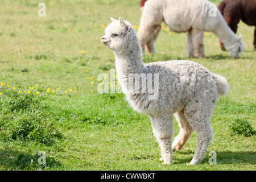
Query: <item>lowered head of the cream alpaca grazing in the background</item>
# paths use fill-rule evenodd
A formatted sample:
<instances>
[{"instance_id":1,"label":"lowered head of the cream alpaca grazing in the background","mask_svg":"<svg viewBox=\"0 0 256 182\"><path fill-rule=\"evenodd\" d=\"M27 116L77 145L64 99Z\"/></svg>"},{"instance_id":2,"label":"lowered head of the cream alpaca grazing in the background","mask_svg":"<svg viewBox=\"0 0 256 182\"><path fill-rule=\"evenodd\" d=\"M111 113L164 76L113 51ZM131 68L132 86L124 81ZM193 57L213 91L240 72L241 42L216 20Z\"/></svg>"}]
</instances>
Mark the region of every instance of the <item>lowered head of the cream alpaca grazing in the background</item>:
<instances>
[{"instance_id":1,"label":"lowered head of the cream alpaca grazing in the background","mask_svg":"<svg viewBox=\"0 0 256 182\"><path fill-rule=\"evenodd\" d=\"M225 49L229 51L230 55L234 58L234 59L237 59L239 57L239 55L245 51L245 46L243 46L243 43L242 43L242 35L240 35L238 37L237 40L235 40L235 42L226 47L224 45Z\"/></svg>"}]
</instances>

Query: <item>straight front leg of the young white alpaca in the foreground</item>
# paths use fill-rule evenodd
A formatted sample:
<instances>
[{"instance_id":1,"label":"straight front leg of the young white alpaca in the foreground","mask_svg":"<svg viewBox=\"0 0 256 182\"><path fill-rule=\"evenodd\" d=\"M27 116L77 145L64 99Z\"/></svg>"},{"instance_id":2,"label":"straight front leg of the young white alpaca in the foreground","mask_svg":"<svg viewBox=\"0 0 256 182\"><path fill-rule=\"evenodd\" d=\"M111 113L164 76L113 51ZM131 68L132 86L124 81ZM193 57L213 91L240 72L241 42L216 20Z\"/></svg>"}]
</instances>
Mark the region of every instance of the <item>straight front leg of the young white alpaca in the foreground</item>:
<instances>
[{"instance_id":1,"label":"straight front leg of the young white alpaca in the foreground","mask_svg":"<svg viewBox=\"0 0 256 182\"><path fill-rule=\"evenodd\" d=\"M158 141L163 164L172 162L172 114L161 114L150 117L154 136Z\"/></svg>"}]
</instances>

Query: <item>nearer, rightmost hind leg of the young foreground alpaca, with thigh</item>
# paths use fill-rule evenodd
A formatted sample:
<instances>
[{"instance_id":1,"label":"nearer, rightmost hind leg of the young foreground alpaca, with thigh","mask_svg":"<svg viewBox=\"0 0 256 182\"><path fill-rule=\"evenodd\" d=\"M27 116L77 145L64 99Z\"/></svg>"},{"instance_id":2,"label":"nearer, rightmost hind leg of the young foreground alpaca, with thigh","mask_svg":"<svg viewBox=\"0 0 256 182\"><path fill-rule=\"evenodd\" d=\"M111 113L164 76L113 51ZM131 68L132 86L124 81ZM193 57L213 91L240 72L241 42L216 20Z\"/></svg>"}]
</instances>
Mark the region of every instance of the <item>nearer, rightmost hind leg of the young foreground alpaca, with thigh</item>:
<instances>
[{"instance_id":1,"label":"nearer, rightmost hind leg of the young foreground alpaca, with thigh","mask_svg":"<svg viewBox=\"0 0 256 182\"><path fill-rule=\"evenodd\" d=\"M189 165L195 165L204 159L210 140L212 140L213 131L210 126L210 115L212 115L214 105L213 102L210 102L207 99L201 101L199 99L185 107L185 118L197 133L196 151ZM204 106L202 106L203 103L205 103Z\"/></svg>"}]
</instances>

